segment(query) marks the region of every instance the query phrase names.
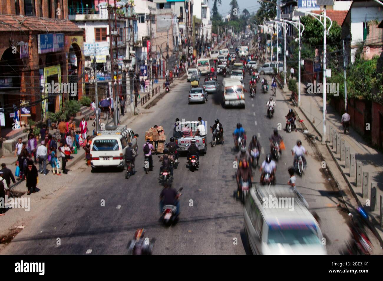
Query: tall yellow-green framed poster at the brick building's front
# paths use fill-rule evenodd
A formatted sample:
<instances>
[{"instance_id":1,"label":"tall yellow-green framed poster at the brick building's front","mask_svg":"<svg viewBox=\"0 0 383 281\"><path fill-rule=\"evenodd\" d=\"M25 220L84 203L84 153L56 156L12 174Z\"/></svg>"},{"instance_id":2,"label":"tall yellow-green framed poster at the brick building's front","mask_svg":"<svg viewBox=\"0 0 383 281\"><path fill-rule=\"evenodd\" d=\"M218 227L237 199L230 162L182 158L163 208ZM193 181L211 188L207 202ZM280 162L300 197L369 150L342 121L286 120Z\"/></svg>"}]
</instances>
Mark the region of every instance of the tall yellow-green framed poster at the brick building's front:
<instances>
[{"instance_id":1,"label":"tall yellow-green framed poster at the brick building's front","mask_svg":"<svg viewBox=\"0 0 383 281\"><path fill-rule=\"evenodd\" d=\"M60 65L53 65L51 67L44 67L44 85L45 83L59 83L61 84L61 69ZM50 97L51 96L51 97ZM59 110L62 108L62 96L61 94L57 95L59 97ZM44 113L44 118L47 118L48 111L51 112L56 112L56 99L54 94L49 94L47 93L47 89L44 87L44 96L43 98L45 99L45 113ZM50 110L49 110L50 109Z\"/></svg>"}]
</instances>

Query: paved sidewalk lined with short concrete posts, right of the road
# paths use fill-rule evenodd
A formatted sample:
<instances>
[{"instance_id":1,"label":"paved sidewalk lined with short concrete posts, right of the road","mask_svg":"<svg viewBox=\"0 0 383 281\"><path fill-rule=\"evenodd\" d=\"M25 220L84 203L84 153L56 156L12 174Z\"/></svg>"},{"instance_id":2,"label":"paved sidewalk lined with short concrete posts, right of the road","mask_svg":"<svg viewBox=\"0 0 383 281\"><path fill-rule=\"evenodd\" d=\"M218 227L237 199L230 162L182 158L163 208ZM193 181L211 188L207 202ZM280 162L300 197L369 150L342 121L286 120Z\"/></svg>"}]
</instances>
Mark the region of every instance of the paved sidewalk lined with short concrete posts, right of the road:
<instances>
[{"instance_id":1,"label":"paved sidewalk lined with short concrete posts, right of the road","mask_svg":"<svg viewBox=\"0 0 383 281\"><path fill-rule=\"evenodd\" d=\"M290 98L290 91L286 91L285 97ZM300 111L306 117L306 120L311 124L309 134L319 134L323 138L323 98L319 94L308 94L306 85L301 83L301 103L298 106ZM353 193L358 205L368 212L370 221L376 229L376 234L380 236L382 243L383 231L379 227L380 221L380 195L383 195L383 154L373 149L366 141L363 140L354 128L350 126L349 135L343 134L343 127L340 123L341 115L337 113L330 105L326 105L326 147L332 155L332 158L337 164L338 169L342 173L347 185ZM303 119L303 116L301 116ZM306 121L305 120L305 121ZM345 141L345 147L350 148L350 154L355 154L355 161L362 162L362 171L368 172L368 196L363 197L362 186L356 186L355 177L350 177L350 169L345 167L345 160L340 159L340 149L333 146L332 137L330 138L330 127L333 132L340 135L340 139ZM356 174L356 173L355 173ZM371 199L370 187L371 182L376 183L376 206L375 210L371 211L369 206L366 206L367 199Z\"/></svg>"}]
</instances>

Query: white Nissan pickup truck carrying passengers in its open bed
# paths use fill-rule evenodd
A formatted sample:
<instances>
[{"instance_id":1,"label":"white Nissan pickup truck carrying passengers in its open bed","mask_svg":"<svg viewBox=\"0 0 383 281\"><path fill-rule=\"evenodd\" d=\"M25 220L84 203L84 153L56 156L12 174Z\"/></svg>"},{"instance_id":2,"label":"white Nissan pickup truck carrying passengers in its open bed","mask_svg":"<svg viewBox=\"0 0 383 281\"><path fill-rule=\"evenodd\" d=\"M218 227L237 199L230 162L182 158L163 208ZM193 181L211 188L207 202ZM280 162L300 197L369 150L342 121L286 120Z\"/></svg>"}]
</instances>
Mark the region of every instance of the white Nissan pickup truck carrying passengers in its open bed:
<instances>
[{"instance_id":1,"label":"white Nissan pickup truck carrying passengers in its open bed","mask_svg":"<svg viewBox=\"0 0 383 281\"><path fill-rule=\"evenodd\" d=\"M198 146L198 149L201 152L204 152L206 154L207 152L207 145L206 145L206 135L204 136L194 136L197 132L197 121L191 121L191 122L184 122L177 125L176 130L181 130L182 132L189 131L193 136L183 136L181 138L176 138L175 142L178 144L180 148L177 149L177 151L188 151L188 147L191 144L191 140L194 138L196 140L195 144ZM205 127L205 133L207 132Z\"/></svg>"}]
</instances>

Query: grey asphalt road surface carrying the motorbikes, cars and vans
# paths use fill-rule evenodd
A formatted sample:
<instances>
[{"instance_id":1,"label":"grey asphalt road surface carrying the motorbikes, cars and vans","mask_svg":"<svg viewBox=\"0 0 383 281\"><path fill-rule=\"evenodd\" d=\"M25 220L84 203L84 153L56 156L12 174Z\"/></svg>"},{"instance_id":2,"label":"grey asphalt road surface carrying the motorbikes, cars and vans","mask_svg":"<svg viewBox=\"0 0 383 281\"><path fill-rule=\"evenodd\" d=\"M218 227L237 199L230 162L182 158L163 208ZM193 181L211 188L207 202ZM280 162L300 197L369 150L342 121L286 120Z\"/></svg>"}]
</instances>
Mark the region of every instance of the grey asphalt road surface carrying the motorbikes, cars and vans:
<instances>
[{"instance_id":1,"label":"grey asphalt road surface carrying the motorbikes, cars and vans","mask_svg":"<svg viewBox=\"0 0 383 281\"><path fill-rule=\"evenodd\" d=\"M246 89L248 81L246 73ZM254 99L247 93L246 109L224 109L220 94L209 95L206 104L188 105L190 83L182 81L150 112L128 124L140 135L134 176L125 180L123 172L110 169L91 173L81 162L70 172L72 184L47 205L38 218L30 221L2 254L85 254L88 250L92 250L91 254L124 254L138 227L146 229L147 237L155 237L154 254L248 253L243 234L243 206L233 198L236 152L231 134L236 123L241 122L248 136L258 135L264 148L263 161L270 150L269 136L278 123L285 127L288 112L288 104L278 89L275 115L268 119L266 102L271 96L271 87L267 94L261 93L260 85L257 87ZM144 133L151 126L162 125L169 141L176 118L197 120L198 116L207 122L208 128L214 119L220 119L225 131L225 145L214 148L209 145L207 154L200 156L200 168L195 172L187 169L185 157L180 158L173 182L175 188L184 188L180 199L180 221L175 226L164 227L158 222L161 190L157 180L158 158L154 156L153 172L146 175L141 168L144 164ZM303 133L288 134L282 130L280 134L286 151L277 163L277 183L288 182L287 169L293 163L290 149L297 139L302 140L309 153L308 169L302 178L298 177L297 185L301 186L298 190L308 201L309 209L321 218L327 252L337 254L349 237L346 214L337 208L337 193L322 174L321 161ZM259 176L259 171L254 171L255 181L259 181ZM102 200L105 200L105 206L101 206ZM57 245L58 240L60 245Z\"/></svg>"}]
</instances>

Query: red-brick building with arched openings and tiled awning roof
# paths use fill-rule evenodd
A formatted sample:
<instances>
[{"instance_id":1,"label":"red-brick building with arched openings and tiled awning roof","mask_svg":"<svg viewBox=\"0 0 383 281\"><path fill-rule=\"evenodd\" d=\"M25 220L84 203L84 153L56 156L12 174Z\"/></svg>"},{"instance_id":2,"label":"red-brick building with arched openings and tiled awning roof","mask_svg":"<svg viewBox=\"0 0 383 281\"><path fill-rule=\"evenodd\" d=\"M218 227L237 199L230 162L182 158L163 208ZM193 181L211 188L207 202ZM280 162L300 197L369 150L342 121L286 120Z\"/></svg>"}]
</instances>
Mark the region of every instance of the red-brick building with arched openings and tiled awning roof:
<instances>
[{"instance_id":1,"label":"red-brick building with arched openings and tiled awning roof","mask_svg":"<svg viewBox=\"0 0 383 281\"><path fill-rule=\"evenodd\" d=\"M0 107L5 125L13 104L43 120L83 93L83 30L68 18L67 0L0 0ZM46 93L44 83L74 83L75 94Z\"/></svg>"}]
</instances>

